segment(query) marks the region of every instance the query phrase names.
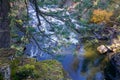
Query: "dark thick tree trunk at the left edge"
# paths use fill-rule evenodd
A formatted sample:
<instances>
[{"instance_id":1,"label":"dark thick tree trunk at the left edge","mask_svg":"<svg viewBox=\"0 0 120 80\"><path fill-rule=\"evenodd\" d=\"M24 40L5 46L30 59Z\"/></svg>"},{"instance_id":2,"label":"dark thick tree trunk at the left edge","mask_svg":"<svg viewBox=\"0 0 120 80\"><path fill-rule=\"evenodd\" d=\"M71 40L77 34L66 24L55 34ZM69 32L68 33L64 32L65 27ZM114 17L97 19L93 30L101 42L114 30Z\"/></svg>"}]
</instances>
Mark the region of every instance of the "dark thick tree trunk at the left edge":
<instances>
[{"instance_id":1,"label":"dark thick tree trunk at the left edge","mask_svg":"<svg viewBox=\"0 0 120 80\"><path fill-rule=\"evenodd\" d=\"M10 47L9 0L0 0L0 48Z\"/></svg>"}]
</instances>

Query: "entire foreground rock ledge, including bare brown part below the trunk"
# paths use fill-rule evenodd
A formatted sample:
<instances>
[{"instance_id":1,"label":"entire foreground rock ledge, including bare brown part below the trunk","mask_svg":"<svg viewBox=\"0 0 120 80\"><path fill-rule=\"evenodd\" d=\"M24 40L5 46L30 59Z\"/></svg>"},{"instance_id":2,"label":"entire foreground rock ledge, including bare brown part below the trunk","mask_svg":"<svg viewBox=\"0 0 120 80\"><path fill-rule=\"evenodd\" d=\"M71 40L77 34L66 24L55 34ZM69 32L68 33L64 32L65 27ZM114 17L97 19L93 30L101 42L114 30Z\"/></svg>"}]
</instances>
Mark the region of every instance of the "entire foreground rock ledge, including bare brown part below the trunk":
<instances>
[{"instance_id":1,"label":"entire foreground rock ledge, including bare brown part below the trunk","mask_svg":"<svg viewBox=\"0 0 120 80\"><path fill-rule=\"evenodd\" d=\"M33 58L15 56L11 59L14 53L12 49L0 50L0 80L70 80L56 60L36 62Z\"/></svg>"}]
</instances>

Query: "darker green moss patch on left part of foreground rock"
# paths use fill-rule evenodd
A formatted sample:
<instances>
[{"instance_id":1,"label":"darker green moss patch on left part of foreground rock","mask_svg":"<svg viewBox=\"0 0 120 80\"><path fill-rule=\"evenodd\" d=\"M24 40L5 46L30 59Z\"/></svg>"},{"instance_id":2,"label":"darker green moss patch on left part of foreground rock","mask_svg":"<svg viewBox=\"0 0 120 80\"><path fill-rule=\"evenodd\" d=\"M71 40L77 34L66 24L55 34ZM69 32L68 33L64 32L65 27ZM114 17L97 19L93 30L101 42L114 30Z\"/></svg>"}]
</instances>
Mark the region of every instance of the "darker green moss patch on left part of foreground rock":
<instances>
[{"instance_id":1,"label":"darker green moss patch on left part of foreground rock","mask_svg":"<svg viewBox=\"0 0 120 80\"><path fill-rule=\"evenodd\" d=\"M35 59L18 57L11 61L11 76L13 80L26 80L28 77L37 78Z\"/></svg>"}]
</instances>

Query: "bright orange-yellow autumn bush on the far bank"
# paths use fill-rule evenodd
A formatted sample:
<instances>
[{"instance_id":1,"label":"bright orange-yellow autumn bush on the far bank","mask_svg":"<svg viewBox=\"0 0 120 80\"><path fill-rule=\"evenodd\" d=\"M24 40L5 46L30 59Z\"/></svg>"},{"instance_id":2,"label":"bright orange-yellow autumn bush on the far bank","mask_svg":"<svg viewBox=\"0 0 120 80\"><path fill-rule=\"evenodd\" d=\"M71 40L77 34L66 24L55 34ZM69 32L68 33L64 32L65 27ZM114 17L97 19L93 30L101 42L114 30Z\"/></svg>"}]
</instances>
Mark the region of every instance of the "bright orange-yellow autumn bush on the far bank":
<instances>
[{"instance_id":1,"label":"bright orange-yellow autumn bush on the far bank","mask_svg":"<svg viewBox=\"0 0 120 80\"><path fill-rule=\"evenodd\" d=\"M113 15L112 12L108 12L106 10L101 10L101 9L97 9L93 11L93 15L91 18L91 22L93 23L101 23L101 22L109 22L110 21L110 17Z\"/></svg>"}]
</instances>

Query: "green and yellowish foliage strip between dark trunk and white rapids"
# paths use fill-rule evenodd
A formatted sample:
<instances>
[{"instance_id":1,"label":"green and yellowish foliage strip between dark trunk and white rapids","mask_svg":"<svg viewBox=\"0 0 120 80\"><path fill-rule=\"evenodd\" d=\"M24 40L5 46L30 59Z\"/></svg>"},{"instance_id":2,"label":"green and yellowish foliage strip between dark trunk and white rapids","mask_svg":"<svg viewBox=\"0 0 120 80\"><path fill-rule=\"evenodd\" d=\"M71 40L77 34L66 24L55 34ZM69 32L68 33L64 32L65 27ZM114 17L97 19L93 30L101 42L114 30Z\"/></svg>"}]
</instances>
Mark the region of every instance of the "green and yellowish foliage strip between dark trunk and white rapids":
<instances>
[{"instance_id":1,"label":"green and yellowish foliage strip between dark trunk and white rapids","mask_svg":"<svg viewBox=\"0 0 120 80\"><path fill-rule=\"evenodd\" d=\"M10 0L11 48L16 49L18 55L23 54L24 46L28 43L28 38L24 33L25 28L23 28L28 21L26 8L25 0Z\"/></svg>"}]
</instances>

